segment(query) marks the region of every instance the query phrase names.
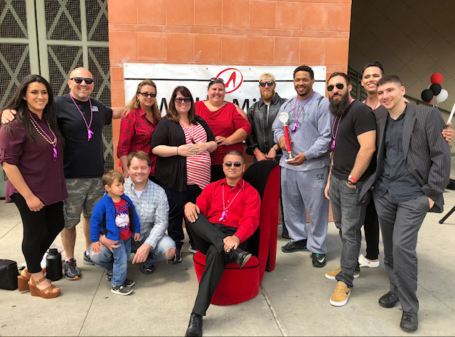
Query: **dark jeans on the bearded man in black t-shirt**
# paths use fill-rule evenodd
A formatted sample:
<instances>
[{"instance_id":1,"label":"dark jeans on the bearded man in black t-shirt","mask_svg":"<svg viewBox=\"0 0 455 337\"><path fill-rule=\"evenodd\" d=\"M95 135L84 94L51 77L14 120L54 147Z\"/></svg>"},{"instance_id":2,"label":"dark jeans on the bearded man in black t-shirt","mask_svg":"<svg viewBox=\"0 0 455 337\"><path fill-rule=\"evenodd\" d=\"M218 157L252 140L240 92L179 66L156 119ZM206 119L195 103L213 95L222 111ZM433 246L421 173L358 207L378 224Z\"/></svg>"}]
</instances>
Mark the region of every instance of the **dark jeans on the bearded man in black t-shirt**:
<instances>
[{"instance_id":1,"label":"dark jeans on the bearded man in black t-shirt","mask_svg":"<svg viewBox=\"0 0 455 337\"><path fill-rule=\"evenodd\" d=\"M360 183L357 188L349 188L345 180L340 180L333 175L330 177L328 196L332 205L333 220L336 228L340 230L341 242L343 242L341 272L336 275L336 279L346 283L349 288L354 287L354 272L360 272L358 264L362 240L360 228L365 220L367 208L365 203L358 205L358 193L360 193Z\"/></svg>"}]
</instances>

